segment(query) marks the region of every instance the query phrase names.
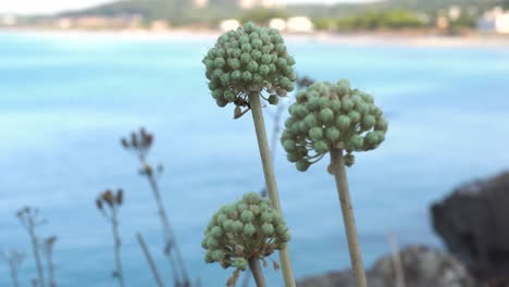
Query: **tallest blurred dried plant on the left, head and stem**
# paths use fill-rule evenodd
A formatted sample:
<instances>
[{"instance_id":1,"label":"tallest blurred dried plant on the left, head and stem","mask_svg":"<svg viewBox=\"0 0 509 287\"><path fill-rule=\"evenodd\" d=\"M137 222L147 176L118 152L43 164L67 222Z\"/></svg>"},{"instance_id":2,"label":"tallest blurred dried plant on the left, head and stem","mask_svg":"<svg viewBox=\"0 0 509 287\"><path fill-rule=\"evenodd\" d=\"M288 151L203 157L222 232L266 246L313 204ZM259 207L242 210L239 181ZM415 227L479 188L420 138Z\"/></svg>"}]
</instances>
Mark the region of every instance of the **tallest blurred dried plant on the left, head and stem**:
<instances>
[{"instance_id":1,"label":"tallest blurred dried plant on the left, head and stem","mask_svg":"<svg viewBox=\"0 0 509 287\"><path fill-rule=\"evenodd\" d=\"M190 287L189 276L184 264L184 258L178 248L178 245L175 239L175 234L173 232L170 220L166 215L166 210L162 202L161 192L159 190L159 185L157 182L157 176L161 175L163 172L163 165L159 164L157 170L152 167L150 163L147 162L147 154L153 144L153 134L147 133L145 128L140 128L137 133L132 133L129 137L121 139L122 147L129 152L133 152L139 160L141 164L141 170L139 174L146 176L150 188L152 190L153 198L156 199L156 204L158 208L159 217L161 220L163 236L164 236L164 248L163 253L167 257L170 261L170 267L173 273L174 286L176 287ZM175 252L172 252L175 251Z\"/></svg>"}]
</instances>

